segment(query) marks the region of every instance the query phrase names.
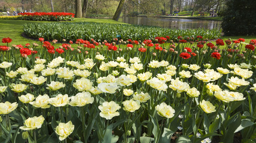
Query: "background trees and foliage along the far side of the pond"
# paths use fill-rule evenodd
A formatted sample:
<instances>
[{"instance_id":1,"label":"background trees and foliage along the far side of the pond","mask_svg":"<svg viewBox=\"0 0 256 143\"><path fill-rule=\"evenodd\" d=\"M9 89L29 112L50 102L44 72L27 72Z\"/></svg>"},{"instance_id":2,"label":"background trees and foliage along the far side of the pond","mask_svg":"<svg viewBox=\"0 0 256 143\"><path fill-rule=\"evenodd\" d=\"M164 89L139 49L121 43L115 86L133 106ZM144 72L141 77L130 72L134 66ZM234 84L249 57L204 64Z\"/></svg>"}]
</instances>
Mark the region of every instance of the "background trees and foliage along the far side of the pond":
<instances>
[{"instance_id":1,"label":"background trees and foliage along the far side of the pond","mask_svg":"<svg viewBox=\"0 0 256 143\"><path fill-rule=\"evenodd\" d=\"M179 11L218 13L225 7L225 1L227 0L4 0L0 1L0 10L68 13L77 11L76 15L79 17L115 15L114 19L117 20L121 12L123 15L147 16L167 15ZM82 7L82 16L80 16L80 7Z\"/></svg>"}]
</instances>

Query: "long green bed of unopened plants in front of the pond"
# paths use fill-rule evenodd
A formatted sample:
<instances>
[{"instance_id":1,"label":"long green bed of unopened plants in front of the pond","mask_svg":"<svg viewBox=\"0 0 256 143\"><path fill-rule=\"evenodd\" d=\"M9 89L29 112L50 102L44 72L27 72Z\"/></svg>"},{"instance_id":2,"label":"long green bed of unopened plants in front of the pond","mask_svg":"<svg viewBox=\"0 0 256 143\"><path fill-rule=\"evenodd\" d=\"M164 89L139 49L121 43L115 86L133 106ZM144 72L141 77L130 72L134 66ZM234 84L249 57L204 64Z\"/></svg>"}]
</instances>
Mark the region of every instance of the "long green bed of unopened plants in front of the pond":
<instances>
[{"instance_id":1,"label":"long green bed of unopened plants in front of the pond","mask_svg":"<svg viewBox=\"0 0 256 143\"><path fill-rule=\"evenodd\" d=\"M161 27L135 26L127 24L107 24L107 23L29 23L23 27L24 33L29 38L40 38L48 41L57 39L67 39L75 41L76 39L91 38L97 39L97 42L104 40L112 41L113 38L133 39L143 41L144 39L153 39L157 36L169 35L170 39L176 39L177 36L188 38L201 35L206 39L216 39L221 36L221 31L213 29L166 29Z\"/></svg>"}]
</instances>

